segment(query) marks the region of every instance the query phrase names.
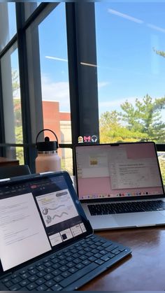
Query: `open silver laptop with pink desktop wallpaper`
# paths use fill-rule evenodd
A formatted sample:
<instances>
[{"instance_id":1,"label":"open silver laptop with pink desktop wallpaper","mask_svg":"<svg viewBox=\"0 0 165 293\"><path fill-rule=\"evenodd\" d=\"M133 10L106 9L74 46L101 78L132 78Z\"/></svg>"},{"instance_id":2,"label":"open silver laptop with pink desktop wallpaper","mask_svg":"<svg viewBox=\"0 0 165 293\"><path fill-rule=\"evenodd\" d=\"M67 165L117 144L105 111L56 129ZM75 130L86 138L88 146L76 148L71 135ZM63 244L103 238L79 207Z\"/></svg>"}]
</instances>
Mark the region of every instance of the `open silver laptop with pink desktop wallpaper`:
<instances>
[{"instance_id":1,"label":"open silver laptop with pink desktop wallpaper","mask_svg":"<svg viewBox=\"0 0 165 293\"><path fill-rule=\"evenodd\" d=\"M78 144L74 155L78 197L94 230L165 224L154 142Z\"/></svg>"}]
</instances>

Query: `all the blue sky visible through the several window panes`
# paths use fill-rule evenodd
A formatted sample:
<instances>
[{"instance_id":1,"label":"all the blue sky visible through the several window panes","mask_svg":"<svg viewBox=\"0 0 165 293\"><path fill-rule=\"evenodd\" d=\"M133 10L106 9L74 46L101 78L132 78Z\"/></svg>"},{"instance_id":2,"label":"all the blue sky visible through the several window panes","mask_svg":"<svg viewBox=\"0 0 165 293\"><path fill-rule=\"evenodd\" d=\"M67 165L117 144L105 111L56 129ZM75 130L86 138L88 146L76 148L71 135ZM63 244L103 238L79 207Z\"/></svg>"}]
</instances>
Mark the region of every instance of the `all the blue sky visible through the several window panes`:
<instances>
[{"instance_id":1,"label":"all the blue sky visible through the several window panes","mask_svg":"<svg viewBox=\"0 0 165 293\"><path fill-rule=\"evenodd\" d=\"M164 97L165 58L154 51L165 51L164 1L99 1L95 13L99 114ZM39 25L39 41L43 99L70 111L64 3Z\"/></svg>"}]
</instances>

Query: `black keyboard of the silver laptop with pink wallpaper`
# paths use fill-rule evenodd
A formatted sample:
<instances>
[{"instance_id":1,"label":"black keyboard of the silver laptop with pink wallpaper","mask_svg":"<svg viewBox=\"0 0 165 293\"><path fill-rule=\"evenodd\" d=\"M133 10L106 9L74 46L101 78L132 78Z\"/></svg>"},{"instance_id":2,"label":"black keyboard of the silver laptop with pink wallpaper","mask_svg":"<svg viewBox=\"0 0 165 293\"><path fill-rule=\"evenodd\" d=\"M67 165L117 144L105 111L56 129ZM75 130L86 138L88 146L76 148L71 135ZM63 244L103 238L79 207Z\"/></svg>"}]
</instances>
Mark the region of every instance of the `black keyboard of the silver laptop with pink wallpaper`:
<instances>
[{"instance_id":1,"label":"black keyboard of the silver laptop with pink wallpaper","mask_svg":"<svg viewBox=\"0 0 165 293\"><path fill-rule=\"evenodd\" d=\"M91 215L110 215L118 213L150 212L152 210L165 210L165 202L134 201L127 203L98 203L88 205Z\"/></svg>"}]
</instances>

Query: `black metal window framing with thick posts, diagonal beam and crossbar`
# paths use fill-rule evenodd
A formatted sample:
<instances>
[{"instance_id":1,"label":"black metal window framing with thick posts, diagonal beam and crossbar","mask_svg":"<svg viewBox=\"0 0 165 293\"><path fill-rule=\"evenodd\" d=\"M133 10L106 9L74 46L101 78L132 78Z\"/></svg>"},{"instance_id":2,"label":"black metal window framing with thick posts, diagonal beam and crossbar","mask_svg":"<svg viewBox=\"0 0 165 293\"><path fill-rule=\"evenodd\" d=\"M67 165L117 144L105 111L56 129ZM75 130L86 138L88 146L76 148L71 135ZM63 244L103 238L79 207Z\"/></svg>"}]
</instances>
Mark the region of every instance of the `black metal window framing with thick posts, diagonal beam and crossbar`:
<instances>
[{"instance_id":1,"label":"black metal window framing with thick posts, diagonal beam and crossbar","mask_svg":"<svg viewBox=\"0 0 165 293\"><path fill-rule=\"evenodd\" d=\"M0 52L0 156L6 156L6 148L22 147L24 149L24 164L28 164L31 172L35 172L36 147L32 139L30 99L29 99L29 78L28 78L28 60L27 60L27 40L26 31L37 18L44 20L60 3L41 3L33 13L24 20L24 3L15 3L17 32L15 36ZM90 13L87 13L87 5L90 5ZM78 136L86 134L96 134L99 137L99 107L98 107L98 85L96 69L89 72L88 78L92 80L92 87L89 92L85 92L85 72L80 65L83 57L82 43L80 43L81 35L85 36L85 30L88 29L89 35L87 45L91 48L87 52L86 57L92 62L96 62L96 31L95 31L95 15L94 3L65 3L66 7L66 34L68 44L69 58L69 92L71 106L71 144L59 144L60 148L71 148L78 143ZM84 17L85 15L85 17ZM83 23L82 23L83 22ZM11 46L17 42L19 68L20 68L20 93L22 104L22 131L23 143L6 143L4 131L4 113L3 113L3 97L1 84L1 57L10 50ZM85 38L82 38L85 42ZM39 52L38 52L39 53ZM88 73L87 73L88 74ZM91 74L91 75L90 75ZM88 108L87 108L88 103ZM41 105L39 105L41 109ZM39 110L38 109L38 110ZM90 121L90 124L89 124ZM94 133L91 133L94 131ZM165 144L157 144L157 151L165 151ZM73 162L74 166L74 162Z\"/></svg>"}]
</instances>

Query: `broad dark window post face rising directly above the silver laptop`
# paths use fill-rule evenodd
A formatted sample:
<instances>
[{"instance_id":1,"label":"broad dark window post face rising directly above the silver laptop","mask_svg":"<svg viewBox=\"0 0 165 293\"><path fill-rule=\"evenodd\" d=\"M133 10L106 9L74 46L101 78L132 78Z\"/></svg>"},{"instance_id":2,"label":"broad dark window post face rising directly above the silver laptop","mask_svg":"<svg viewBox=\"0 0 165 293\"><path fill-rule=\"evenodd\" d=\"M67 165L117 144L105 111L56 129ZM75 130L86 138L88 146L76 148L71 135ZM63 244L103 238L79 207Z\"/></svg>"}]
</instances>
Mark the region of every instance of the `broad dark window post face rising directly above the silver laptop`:
<instances>
[{"instance_id":1,"label":"broad dark window post face rising directly above the silver laptop","mask_svg":"<svg viewBox=\"0 0 165 293\"><path fill-rule=\"evenodd\" d=\"M96 62L95 11L92 2L76 2L78 90L82 136L99 138L99 105Z\"/></svg>"}]
</instances>

